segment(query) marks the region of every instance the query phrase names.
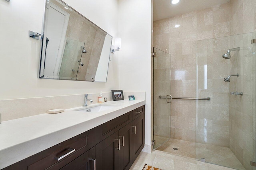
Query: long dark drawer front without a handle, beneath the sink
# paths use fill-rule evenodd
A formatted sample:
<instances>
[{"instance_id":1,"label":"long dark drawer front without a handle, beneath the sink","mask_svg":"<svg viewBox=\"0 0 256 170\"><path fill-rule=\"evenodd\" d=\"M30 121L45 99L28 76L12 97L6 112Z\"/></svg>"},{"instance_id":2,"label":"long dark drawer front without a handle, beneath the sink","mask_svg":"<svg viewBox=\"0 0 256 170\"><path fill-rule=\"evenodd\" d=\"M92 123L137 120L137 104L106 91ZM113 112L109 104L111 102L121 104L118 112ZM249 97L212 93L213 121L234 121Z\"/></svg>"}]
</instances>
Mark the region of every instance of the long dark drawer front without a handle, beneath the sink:
<instances>
[{"instance_id":1,"label":"long dark drawer front without a handle, beneath the sink","mask_svg":"<svg viewBox=\"0 0 256 170\"><path fill-rule=\"evenodd\" d=\"M125 113L115 119L112 119L98 127L96 127L97 133L100 133L100 139L96 139L96 141L102 141L106 139L106 137L112 135L114 132L118 131L128 123L132 121L132 111Z\"/></svg>"}]
</instances>

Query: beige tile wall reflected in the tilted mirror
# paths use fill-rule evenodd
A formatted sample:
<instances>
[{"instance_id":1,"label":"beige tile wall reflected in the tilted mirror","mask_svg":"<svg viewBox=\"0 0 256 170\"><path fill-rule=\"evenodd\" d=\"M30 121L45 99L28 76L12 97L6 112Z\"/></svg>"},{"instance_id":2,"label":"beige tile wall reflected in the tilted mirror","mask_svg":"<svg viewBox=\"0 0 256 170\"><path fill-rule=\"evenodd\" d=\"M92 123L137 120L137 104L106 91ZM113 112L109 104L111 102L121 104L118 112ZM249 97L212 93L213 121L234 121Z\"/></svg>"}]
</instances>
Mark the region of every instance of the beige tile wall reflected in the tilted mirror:
<instances>
[{"instance_id":1,"label":"beige tile wall reflected in the tilted mirror","mask_svg":"<svg viewBox=\"0 0 256 170\"><path fill-rule=\"evenodd\" d=\"M63 6L57 1L51 2L60 8L63 8ZM77 66L65 68L64 73L65 75L70 74L70 77L75 76L78 80L93 81L101 55L101 50L99 49L102 49L103 47L106 33L99 29L96 25L92 25L90 21L85 20L75 11L70 11L65 8L63 10L70 14L66 38L84 42L84 45L82 46L84 46L87 51L87 53L82 53L82 57L80 55L79 59L67 58L65 63L70 63L73 62L73 60L76 60L74 63L77 64L78 61L81 61L84 65L79 66L79 68L77 68ZM80 51L82 52L81 48ZM72 69L76 70L77 72L72 72Z\"/></svg>"}]
</instances>

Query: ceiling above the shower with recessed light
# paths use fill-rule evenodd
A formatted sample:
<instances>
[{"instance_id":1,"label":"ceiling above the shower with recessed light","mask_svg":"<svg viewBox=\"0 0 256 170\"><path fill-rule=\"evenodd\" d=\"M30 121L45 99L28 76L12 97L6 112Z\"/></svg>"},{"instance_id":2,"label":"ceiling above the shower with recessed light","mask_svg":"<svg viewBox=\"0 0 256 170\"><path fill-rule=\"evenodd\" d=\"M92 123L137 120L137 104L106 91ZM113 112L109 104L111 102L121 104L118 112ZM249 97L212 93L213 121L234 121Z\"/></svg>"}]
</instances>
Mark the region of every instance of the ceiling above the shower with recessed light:
<instances>
[{"instance_id":1,"label":"ceiling above the shower with recessed light","mask_svg":"<svg viewBox=\"0 0 256 170\"><path fill-rule=\"evenodd\" d=\"M154 21L185 14L195 10L202 10L218 4L225 4L230 0L180 0L178 4L170 0L153 0Z\"/></svg>"}]
</instances>

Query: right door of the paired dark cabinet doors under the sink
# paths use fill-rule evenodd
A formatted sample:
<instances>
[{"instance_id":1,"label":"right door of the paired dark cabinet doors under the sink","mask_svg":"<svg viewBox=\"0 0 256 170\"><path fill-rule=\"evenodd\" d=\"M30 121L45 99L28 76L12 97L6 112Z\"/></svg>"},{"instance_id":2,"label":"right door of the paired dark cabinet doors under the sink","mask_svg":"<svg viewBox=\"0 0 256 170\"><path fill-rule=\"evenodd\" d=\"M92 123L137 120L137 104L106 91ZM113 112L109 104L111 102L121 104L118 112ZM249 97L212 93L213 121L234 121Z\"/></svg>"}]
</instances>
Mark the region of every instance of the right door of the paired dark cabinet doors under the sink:
<instances>
[{"instance_id":1,"label":"right door of the paired dark cabinet doors under the sink","mask_svg":"<svg viewBox=\"0 0 256 170\"><path fill-rule=\"evenodd\" d=\"M118 131L120 139L119 169L128 170L132 166L132 122Z\"/></svg>"}]
</instances>

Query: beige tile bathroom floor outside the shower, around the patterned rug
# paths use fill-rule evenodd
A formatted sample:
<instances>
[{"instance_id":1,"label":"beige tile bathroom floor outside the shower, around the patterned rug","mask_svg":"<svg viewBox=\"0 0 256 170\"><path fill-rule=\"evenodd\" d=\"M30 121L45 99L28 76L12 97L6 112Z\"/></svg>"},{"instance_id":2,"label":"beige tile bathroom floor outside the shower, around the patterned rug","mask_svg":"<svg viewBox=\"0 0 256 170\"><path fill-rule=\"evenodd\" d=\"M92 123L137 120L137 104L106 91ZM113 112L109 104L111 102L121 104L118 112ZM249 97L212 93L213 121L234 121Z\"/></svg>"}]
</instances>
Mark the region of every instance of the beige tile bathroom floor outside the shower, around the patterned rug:
<instances>
[{"instance_id":1,"label":"beige tile bathroom floor outside the shower, around the patterned rug","mask_svg":"<svg viewBox=\"0 0 256 170\"><path fill-rule=\"evenodd\" d=\"M130 170L142 170L145 164L162 170L233 170L159 150L154 150L152 153L140 152Z\"/></svg>"}]
</instances>

